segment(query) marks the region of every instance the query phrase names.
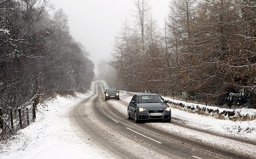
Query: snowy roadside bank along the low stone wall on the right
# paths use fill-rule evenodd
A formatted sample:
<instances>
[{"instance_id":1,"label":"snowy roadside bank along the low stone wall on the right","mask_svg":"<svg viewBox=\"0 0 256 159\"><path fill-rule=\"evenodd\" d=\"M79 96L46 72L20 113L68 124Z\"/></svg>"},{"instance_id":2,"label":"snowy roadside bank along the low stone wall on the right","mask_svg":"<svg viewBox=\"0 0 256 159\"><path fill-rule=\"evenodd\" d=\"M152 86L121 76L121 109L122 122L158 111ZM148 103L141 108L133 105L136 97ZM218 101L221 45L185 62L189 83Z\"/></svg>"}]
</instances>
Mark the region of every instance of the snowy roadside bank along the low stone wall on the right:
<instances>
[{"instance_id":1,"label":"snowy roadside bank along the low stone wall on the right","mask_svg":"<svg viewBox=\"0 0 256 159\"><path fill-rule=\"evenodd\" d=\"M125 98L127 101L131 100L132 96L136 93L134 92L126 92L126 91L120 91L122 98ZM189 109L188 107L180 107L177 106L180 103L184 105L194 105L197 106L198 104L189 104L180 100L174 100L171 98L165 98L166 100L169 100L171 103L177 102L176 105L170 105L171 106L171 116L172 118L175 118L177 120L182 121L184 124L200 128L200 129L205 129L205 130L210 130L210 131L215 131L218 133L226 134L226 135L235 135L237 137L245 137L248 139L256 140L256 120L255 120L255 109L240 109L237 110L237 112L241 112L240 115L243 116L249 116L252 115L252 118L248 118L246 121L242 120L230 120L225 114L223 114L222 118L219 117L219 115L216 115L216 113L211 112L208 113L207 111L204 111L204 113L197 113L196 109L192 110ZM205 106L205 105L198 105L198 107L201 107L202 109L218 109L219 112L224 112L225 110L228 109L223 109L223 108L218 108L218 107L211 107L211 106ZM203 108L205 107L205 108ZM127 108L126 108L127 109ZM201 115L203 114L203 115ZM224 118L226 117L226 118ZM243 118L245 120L245 118ZM161 125L162 128L164 129L169 129L168 125L164 124Z\"/></svg>"}]
</instances>

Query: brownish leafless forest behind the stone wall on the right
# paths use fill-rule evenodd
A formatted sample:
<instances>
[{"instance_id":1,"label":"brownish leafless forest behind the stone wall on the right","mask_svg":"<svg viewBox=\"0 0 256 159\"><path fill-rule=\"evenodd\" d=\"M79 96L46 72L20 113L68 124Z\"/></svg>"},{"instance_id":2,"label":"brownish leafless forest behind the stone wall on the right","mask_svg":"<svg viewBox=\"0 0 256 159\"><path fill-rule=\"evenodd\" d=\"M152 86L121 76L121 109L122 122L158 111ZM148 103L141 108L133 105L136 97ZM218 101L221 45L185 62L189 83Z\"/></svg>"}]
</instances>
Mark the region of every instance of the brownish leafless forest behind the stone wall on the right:
<instances>
[{"instance_id":1,"label":"brownish leafless forest behind the stone wall on the right","mask_svg":"<svg viewBox=\"0 0 256 159\"><path fill-rule=\"evenodd\" d=\"M256 108L255 0L170 0L162 27L134 6L113 46L120 88Z\"/></svg>"}]
</instances>

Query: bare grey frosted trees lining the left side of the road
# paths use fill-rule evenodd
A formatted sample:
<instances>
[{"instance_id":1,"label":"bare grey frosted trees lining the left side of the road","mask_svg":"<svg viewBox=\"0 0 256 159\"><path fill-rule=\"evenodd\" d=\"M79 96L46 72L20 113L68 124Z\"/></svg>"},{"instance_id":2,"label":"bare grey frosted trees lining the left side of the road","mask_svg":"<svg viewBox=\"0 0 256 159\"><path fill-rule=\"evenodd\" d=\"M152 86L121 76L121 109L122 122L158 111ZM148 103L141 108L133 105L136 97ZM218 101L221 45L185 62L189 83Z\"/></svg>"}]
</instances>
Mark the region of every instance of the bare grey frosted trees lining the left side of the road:
<instances>
[{"instance_id":1,"label":"bare grey frosted trees lining the left side of the road","mask_svg":"<svg viewBox=\"0 0 256 159\"><path fill-rule=\"evenodd\" d=\"M43 99L90 88L89 53L70 35L64 11L50 15L53 9L47 0L0 0L1 122L9 121L10 108L24 108L36 94Z\"/></svg>"}]
</instances>

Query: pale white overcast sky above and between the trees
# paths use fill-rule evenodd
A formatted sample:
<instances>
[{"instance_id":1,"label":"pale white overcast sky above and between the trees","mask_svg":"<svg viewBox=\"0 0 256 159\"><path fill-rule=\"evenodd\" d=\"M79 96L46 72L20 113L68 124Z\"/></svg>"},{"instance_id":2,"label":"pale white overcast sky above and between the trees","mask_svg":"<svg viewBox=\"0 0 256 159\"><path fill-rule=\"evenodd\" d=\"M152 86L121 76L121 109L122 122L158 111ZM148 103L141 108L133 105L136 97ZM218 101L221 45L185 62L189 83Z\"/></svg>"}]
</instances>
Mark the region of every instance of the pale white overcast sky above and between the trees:
<instances>
[{"instance_id":1,"label":"pale white overcast sky above and between the trees","mask_svg":"<svg viewBox=\"0 0 256 159\"><path fill-rule=\"evenodd\" d=\"M55 10L62 8L68 15L70 32L85 46L90 59L97 63L110 56L115 36L122 22L130 16L134 0L51 0ZM160 28L168 16L169 0L150 0L152 15ZM97 70L95 70L97 72Z\"/></svg>"}]
</instances>

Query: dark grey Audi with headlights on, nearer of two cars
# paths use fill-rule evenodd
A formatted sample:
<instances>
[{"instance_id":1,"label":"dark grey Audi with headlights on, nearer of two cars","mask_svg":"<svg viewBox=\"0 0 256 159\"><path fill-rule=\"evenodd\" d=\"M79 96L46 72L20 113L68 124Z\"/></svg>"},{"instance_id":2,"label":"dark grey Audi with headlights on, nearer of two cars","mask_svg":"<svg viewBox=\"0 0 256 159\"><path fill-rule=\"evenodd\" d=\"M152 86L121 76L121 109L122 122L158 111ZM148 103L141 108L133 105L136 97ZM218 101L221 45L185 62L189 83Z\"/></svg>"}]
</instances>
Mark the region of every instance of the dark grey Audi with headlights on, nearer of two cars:
<instances>
[{"instance_id":1,"label":"dark grey Audi with headlights on, nearer of two cars","mask_svg":"<svg viewBox=\"0 0 256 159\"><path fill-rule=\"evenodd\" d=\"M128 105L128 119L135 122L147 120L162 120L171 122L171 109L168 100L159 94L135 94Z\"/></svg>"}]
</instances>

